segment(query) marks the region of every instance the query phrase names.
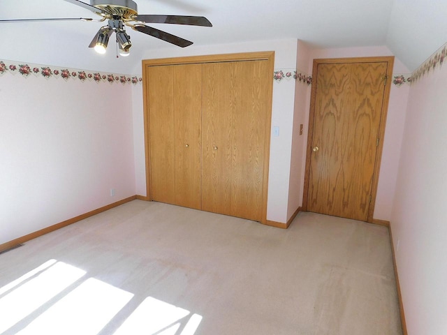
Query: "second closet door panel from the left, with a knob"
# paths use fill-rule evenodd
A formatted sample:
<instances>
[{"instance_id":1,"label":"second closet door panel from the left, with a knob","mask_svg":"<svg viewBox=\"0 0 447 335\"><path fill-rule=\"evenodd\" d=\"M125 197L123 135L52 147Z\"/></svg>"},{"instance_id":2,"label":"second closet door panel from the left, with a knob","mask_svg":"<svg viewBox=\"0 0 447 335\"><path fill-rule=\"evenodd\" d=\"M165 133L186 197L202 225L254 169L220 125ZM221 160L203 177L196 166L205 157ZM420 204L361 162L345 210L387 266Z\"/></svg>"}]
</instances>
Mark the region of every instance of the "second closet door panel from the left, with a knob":
<instances>
[{"instance_id":1,"label":"second closet door panel from the left, with a knob","mask_svg":"<svg viewBox=\"0 0 447 335\"><path fill-rule=\"evenodd\" d=\"M201 64L174 67L175 204L201 208Z\"/></svg>"}]
</instances>

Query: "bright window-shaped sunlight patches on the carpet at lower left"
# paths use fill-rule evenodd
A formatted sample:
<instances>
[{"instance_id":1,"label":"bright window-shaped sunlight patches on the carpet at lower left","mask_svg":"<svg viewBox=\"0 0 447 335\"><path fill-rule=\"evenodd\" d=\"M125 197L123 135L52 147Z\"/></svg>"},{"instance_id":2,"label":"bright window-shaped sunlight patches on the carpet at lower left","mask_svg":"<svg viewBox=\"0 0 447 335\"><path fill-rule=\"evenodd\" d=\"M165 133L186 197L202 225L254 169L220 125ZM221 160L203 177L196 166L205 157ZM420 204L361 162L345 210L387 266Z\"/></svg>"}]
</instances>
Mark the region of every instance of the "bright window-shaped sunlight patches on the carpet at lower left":
<instances>
[{"instance_id":1,"label":"bright window-shaped sunlight patches on the carpet at lower left","mask_svg":"<svg viewBox=\"0 0 447 335\"><path fill-rule=\"evenodd\" d=\"M96 335L119 320L135 295L86 275L48 260L1 287L0 334ZM146 297L115 335L194 335L200 322L201 315Z\"/></svg>"}]
</instances>

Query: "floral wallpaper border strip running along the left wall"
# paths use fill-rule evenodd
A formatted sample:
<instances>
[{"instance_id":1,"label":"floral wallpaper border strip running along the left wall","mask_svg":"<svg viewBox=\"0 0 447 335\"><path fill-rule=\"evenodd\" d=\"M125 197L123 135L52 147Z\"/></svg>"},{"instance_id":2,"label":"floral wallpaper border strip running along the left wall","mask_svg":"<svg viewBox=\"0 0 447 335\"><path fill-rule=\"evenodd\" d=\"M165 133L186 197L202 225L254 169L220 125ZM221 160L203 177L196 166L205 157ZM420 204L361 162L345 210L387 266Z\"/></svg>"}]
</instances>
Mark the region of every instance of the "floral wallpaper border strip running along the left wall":
<instances>
[{"instance_id":1,"label":"floral wallpaper border strip running along the left wall","mask_svg":"<svg viewBox=\"0 0 447 335\"><path fill-rule=\"evenodd\" d=\"M142 82L142 77L135 75L75 70L70 68L50 67L38 64L26 64L23 62L19 63L0 60L0 76L4 75L5 73L10 73L13 75L20 74L23 77L36 75L47 79L61 77L64 80L73 79L80 80L81 82L84 82L85 80L93 80L94 82L110 82L110 84L113 84L114 82L121 84L138 84Z\"/></svg>"}]
</instances>

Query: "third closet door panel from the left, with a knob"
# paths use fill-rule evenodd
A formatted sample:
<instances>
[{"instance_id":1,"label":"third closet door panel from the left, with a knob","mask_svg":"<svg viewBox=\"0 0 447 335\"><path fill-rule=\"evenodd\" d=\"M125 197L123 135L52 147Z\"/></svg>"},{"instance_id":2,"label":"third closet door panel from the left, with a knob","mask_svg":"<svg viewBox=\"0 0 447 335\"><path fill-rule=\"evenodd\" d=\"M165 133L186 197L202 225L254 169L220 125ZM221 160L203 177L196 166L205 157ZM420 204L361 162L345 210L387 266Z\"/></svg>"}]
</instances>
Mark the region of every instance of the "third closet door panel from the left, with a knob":
<instances>
[{"instance_id":1,"label":"third closet door panel from the left, with a knob","mask_svg":"<svg viewBox=\"0 0 447 335\"><path fill-rule=\"evenodd\" d=\"M202 209L230 214L233 63L203 64Z\"/></svg>"}]
</instances>

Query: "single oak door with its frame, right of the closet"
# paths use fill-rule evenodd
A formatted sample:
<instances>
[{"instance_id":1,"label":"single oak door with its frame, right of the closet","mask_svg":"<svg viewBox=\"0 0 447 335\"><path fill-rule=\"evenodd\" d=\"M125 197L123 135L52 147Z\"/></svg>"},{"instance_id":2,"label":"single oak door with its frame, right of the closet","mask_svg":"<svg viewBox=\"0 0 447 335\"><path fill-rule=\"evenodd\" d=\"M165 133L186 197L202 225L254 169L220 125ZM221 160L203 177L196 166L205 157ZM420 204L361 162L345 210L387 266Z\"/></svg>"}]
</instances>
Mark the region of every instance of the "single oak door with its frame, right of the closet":
<instances>
[{"instance_id":1,"label":"single oak door with its frame, right of the closet","mask_svg":"<svg viewBox=\"0 0 447 335\"><path fill-rule=\"evenodd\" d=\"M371 221L393 60L314 66L307 210Z\"/></svg>"}]
</instances>

